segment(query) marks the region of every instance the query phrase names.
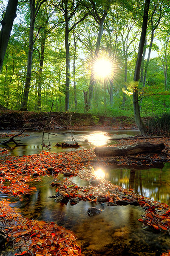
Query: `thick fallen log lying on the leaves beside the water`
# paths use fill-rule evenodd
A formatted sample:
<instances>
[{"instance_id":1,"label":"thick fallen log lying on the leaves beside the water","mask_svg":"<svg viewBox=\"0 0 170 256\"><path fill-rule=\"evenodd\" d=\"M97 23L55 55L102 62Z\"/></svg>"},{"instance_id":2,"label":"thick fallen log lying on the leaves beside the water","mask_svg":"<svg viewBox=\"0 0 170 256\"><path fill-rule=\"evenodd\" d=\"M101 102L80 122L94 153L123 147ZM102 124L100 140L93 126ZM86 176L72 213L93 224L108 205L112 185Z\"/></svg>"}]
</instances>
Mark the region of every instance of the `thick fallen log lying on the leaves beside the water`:
<instances>
[{"instance_id":1,"label":"thick fallen log lying on the leaves beside the water","mask_svg":"<svg viewBox=\"0 0 170 256\"><path fill-rule=\"evenodd\" d=\"M151 144L149 142L133 143L132 145L117 147L96 147L94 153L97 157L124 156L148 152L160 152L165 148L164 143Z\"/></svg>"}]
</instances>

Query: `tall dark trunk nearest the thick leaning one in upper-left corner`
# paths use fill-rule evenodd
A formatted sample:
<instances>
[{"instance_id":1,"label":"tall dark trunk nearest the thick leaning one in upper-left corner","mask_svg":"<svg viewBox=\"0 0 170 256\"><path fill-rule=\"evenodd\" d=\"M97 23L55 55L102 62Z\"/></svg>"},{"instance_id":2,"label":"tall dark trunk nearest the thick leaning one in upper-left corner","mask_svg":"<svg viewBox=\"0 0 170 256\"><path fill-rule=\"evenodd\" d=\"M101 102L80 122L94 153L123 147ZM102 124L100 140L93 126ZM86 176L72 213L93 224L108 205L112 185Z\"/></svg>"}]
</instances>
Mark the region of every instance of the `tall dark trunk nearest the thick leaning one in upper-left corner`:
<instances>
[{"instance_id":1,"label":"tall dark trunk nearest the thick leaning one in upper-left corner","mask_svg":"<svg viewBox=\"0 0 170 256\"><path fill-rule=\"evenodd\" d=\"M29 47L28 47L28 58L27 58L27 73L26 83L24 87L23 102L21 104L21 111L27 111L28 93L31 83L31 69L32 69L32 54L34 45L34 23L35 23L35 0L30 0L30 29L29 29Z\"/></svg>"}]
</instances>

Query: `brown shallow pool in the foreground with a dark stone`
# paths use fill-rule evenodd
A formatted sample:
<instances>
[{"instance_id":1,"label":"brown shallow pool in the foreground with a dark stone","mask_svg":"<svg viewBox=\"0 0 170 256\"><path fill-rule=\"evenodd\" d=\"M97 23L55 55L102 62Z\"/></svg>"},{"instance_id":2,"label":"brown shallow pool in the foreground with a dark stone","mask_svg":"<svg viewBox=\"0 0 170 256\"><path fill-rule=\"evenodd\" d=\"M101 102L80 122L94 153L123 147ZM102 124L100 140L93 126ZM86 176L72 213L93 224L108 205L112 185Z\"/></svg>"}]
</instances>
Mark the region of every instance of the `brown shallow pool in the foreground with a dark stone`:
<instances>
[{"instance_id":1,"label":"brown shallow pool in the foreground with a dark stone","mask_svg":"<svg viewBox=\"0 0 170 256\"><path fill-rule=\"evenodd\" d=\"M86 256L160 256L170 249L170 236L142 229L137 221L144 213L142 208L131 205L108 207L106 204L94 204L80 201L71 206L56 203L55 189L50 186L52 177L42 177L42 182L32 183L37 186L34 195L23 197L23 201L11 204L21 209L27 218L54 221L74 231L82 253ZM78 177L72 178L78 185L88 183ZM89 207L102 209L100 215L88 216Z\"/></svg>"}]
</instances>

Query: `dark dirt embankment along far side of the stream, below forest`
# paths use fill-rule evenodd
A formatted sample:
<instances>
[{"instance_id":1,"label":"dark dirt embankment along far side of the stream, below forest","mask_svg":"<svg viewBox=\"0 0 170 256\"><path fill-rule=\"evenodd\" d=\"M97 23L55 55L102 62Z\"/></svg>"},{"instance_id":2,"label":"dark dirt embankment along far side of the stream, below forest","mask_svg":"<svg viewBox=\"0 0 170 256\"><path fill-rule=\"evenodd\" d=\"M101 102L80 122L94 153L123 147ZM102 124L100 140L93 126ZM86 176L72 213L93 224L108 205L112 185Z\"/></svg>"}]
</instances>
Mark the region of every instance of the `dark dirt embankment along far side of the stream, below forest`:
<instances>
[{"instance_id":1,"label":"dark dirt embankment along far side of the stream, below forest","mask_svg":"<svg viewBox=\"0 0 170 256\"><path fill-rule=\"evenodd\" d=\"M46 129L99 128L99 129L133 129L136 124L133 117L95 116L91 113L65 112L25 112L0 110L0 130L21 129L24 124L29 128Z\"/></svg>"}]
</instances>

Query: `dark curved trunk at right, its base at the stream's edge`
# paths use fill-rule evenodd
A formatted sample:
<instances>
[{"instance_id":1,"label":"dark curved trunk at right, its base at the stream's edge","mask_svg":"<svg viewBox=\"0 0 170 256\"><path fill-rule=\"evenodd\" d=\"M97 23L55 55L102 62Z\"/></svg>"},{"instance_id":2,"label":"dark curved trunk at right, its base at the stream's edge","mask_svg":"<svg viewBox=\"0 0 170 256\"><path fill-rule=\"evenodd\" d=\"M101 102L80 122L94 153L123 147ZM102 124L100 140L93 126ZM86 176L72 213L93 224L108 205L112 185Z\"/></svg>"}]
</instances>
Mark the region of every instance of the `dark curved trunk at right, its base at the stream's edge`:
<instances>
[{"instance_id":1,"label":"dark curved trunk at right, its base at the stream's edge","mask_svg":"<svg viewBox=\"0 0 170 256\"><path fill-rule=\"evenodd\" d=\"M140 37L140 42L139 42L139 50L138 50L138 57L136 60L135 73L134 73L134 77L133 77L133 81L134 81L134 87L133 87L134 116L135 116L136 125L138 126L138 128L141 131L141 134L143 136L145 135L145 127L142 122L140 110L139 110L138 86L139 86L139 75L140 75L140 68L141 68L141 62L142 62L142 54L143 54L143 48L144 48L144 40L146 37L146 31L147 31L149 5L150 5L150 0L145 0L143 22L142 22L142 32L141 32L141 37Z\"/></svg>"}]
</instances>

